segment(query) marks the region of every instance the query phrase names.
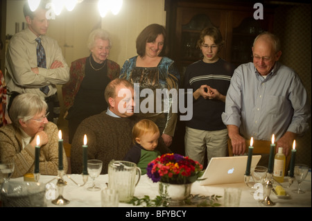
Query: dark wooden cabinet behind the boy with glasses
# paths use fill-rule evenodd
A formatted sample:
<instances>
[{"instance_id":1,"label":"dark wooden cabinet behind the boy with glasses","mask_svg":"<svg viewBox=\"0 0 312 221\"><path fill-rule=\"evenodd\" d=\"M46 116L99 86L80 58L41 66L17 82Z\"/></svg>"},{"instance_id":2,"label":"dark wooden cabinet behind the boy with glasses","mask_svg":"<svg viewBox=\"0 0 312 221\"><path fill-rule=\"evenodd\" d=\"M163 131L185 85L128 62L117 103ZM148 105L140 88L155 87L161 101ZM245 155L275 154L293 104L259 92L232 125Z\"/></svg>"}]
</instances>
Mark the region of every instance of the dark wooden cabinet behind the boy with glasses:
<instances>
[{"instance_id":1,"label":"dark wooden cabinet behind the boy with glasses","mask_svg":"<svg viewBox=\"0 0 312 221\"><path fill-rule=\"evenodd\" d=\"M165 10L169 57L177 62L181 73L201 59L196 44L202 28L219 28L225 41L220 57L237 67L252 61L254 38L273 26L273 8L263 5L263 19L254 19L257 8L250 2L166 0Z\"/></svg>"}]
</instances>

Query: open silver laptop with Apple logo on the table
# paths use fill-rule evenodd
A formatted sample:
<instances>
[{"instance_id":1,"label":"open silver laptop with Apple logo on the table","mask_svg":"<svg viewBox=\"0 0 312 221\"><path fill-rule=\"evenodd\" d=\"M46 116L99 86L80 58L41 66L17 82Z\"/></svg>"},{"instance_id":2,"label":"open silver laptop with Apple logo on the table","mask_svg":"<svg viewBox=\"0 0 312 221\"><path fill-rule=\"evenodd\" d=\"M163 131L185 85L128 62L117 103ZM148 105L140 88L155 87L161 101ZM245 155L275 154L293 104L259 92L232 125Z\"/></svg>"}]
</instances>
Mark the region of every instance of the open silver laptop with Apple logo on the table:
<instances>
[{"instance_id":1,"label":"open silver laptop with Apple logo on the table","mask_svg":"<svg viewBox=\"0 0 312 221\"><path fill-rule=\"evenodd\" d=\"M253 155L250 168L257 166L261 155ZM244 182L248 156L212 157L200 178L201 186Z\"/></svg>"}]
</instances>

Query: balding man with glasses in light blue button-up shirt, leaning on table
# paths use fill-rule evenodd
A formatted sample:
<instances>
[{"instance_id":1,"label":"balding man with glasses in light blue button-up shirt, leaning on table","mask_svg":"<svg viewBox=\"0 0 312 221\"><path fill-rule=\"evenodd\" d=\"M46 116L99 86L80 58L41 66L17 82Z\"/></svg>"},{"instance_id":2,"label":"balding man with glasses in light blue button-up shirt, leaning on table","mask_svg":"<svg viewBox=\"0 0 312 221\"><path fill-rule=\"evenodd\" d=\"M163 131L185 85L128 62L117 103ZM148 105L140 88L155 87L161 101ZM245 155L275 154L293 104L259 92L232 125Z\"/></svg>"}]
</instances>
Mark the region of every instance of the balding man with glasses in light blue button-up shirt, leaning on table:
<instances>
[{"instance_id":1,"label":"balding man with glasses in light blue button-up shirt, leaning on table","mask_svg":"<svg viewBox=\"0 0 312 221\"><path fill-rule=\"evenodd\" d=\"M297 135L309 128L311 107L297 73L279 63L277 36L261 33L252 46L253 62L241 64L227 91L223 123L234 154L245 152L245 139L270 141L287 156Z\"/></svg>"}]
</instances>

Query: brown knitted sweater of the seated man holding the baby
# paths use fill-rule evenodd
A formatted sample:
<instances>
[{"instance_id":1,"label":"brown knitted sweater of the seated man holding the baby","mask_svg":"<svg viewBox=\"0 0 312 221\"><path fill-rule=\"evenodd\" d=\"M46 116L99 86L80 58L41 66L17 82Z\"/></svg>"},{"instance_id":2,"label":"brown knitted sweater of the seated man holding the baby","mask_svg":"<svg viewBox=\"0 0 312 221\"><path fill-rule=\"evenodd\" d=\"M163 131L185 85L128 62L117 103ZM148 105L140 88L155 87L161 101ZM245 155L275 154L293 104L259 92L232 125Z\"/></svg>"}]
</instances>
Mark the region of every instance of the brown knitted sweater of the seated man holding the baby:
<instances>
[{"instance_id":1,"label":"brown knitted sweater of the seated man holding the baby","mask_svg":"<svg viewBox=\"0 0 312 221\"><path fill-rule=\"evenodd\" d=\"M86 118L76 130L71 143L71 172L83 172L83 136L87 134L88 159L103 161L101 174L107 174L108 163L112 159L123 160L132 148L132 127L139 119L134 116L115 118L105 112ZM159 141L164 143L164 141ZM159 152L171 152L164 145Z\"/></svg>"}]
</instances>

